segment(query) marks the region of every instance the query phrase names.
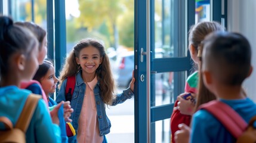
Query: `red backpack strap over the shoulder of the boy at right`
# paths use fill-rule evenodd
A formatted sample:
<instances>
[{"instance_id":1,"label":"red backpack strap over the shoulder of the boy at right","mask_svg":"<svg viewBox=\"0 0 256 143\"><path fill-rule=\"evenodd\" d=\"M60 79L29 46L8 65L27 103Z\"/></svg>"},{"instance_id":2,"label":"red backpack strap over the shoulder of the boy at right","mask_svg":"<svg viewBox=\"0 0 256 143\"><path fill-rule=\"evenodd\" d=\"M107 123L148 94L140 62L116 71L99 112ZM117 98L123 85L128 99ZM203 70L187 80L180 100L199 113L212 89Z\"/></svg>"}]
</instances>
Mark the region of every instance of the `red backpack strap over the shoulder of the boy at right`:
<instances>
[{"instance_id":1,"label":"red backpack strap over the shoulder of the boy at right","mask_svg":"<svg viewBox=\"0 0 256 143\"><path fill-rule=\"evenodd\" d=\"M247 127L245 120L224 102L217 100L210 101L202 104L198 110L200 109L211 113L235 138L238 138Z\"/></svg>"}]
</instances>

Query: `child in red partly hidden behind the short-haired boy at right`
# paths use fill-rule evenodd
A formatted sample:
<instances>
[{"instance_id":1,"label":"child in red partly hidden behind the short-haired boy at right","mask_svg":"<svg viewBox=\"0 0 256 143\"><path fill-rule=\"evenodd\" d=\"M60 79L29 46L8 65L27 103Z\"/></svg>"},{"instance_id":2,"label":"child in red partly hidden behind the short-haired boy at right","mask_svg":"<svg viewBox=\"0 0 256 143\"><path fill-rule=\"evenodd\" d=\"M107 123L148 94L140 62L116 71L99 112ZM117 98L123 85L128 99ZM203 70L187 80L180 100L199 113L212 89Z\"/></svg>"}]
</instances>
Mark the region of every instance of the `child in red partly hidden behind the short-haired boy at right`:
<instances>
[{"instance_id":1,"label":"child in red partly hidden behind the short-haired boy at right","mask_svg":"<svg viewBox=\"0 0 256 143\"><path fill-rule=\"evenodd\" d=\"M195 103L198 102L196 95L198 94L198 82L199 82L199 73L198 67L200 64L200 59L198 57L199 45L203 41L206 35L214 31L224 31L225 28L221 26L220 23L215 21L205 21L197 23L195 26L192 26L189 30L189 52L190 56L195 63L195 71L187 78L184 93L180 94L177 97L177 101L174 104L174 110L171 115L171 141L174 140L174 133L179 130L178 125L181 123L190 125L191 116L194 113ZM194 100L186 100L184 96L191 93ZM208 100L214 100L215 97L212 94L208 94ZM194 102L196 101L196 102ZM201 103L201 100L199 100Z\"/></svg>"}]
</instances>

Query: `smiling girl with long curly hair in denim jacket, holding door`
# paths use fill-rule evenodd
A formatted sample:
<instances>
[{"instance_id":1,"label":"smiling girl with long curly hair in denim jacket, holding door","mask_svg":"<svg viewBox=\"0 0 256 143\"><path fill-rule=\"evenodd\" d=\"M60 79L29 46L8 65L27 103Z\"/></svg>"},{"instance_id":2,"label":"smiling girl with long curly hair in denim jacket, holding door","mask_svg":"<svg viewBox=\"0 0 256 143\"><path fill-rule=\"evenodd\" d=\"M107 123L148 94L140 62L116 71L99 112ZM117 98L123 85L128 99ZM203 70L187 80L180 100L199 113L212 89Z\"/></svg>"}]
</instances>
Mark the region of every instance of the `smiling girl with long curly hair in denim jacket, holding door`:
<instances>
[{"instance_id":1,"label":"smiling girl with long curly hair in denim jacket, holding door","mask_svg":"<svg viewBox=\"0 0 256 143\"><path fill-rule=\"evenodd\" d=\"M114 94L115 82L109 57L104 46L95 39L83 39L75 45L60 73L60 92L57 102L65 100L67 77L75 76L71 99L71 115L78 142L107 142L111 123L106 115L106 104L117 105L134 95L134 77L130 88Z\"/></svg>"}]
</instances>

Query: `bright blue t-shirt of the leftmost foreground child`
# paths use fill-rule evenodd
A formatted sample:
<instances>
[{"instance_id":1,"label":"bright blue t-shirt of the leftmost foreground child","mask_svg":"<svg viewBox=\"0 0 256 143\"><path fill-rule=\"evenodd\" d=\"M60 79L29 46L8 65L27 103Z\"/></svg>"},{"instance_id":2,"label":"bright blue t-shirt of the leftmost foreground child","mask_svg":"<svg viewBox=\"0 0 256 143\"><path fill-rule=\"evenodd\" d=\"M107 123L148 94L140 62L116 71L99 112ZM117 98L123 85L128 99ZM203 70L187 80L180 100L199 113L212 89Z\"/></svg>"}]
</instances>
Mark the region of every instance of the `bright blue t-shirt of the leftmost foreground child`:
<instances>
[{"instance_id":1,"label":"bright blue t-shirt of the leftmost foreground child","mask_svg":"<svg viewBox=\"0 0 256 143\"><path fill-rule=\"evenodd\" d=\"M0 88L0 116L7 117L15 126L29 94L30 91L17 86ZM0 123L2 129L5 127ZM60 136L56 135L60 135L60 128L51 122L45 102L39 100L27 128L26 142L60 142Z\"/></svg>"}]
</instances>

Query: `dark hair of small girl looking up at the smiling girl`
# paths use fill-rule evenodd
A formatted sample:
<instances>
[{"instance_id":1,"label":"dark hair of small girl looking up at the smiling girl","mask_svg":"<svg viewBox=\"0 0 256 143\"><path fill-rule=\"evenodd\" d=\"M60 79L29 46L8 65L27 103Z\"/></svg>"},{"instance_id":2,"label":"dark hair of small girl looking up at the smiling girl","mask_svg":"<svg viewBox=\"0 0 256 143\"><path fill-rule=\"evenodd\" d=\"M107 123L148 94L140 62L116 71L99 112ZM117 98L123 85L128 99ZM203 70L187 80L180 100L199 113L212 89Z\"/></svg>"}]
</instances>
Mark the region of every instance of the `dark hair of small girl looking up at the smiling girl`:
<instances>
[{"instance_id":1,"label":"dark hair of small girl looking up at the smiling girl","mask_svg":"<svg viewBox=\"0 0 256 143\"><path fill-rule=\"evenodd\" d=\"M38 80L41 83L42 77L44 77L48 70L53 66L53 61L51 60L44 60L44 63L39 65L38 70L36 71L35 76L33 77L34 80Z\"/></svg>"}]
</instances>

